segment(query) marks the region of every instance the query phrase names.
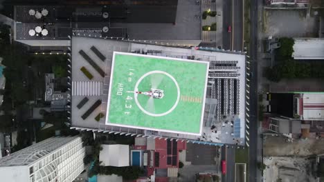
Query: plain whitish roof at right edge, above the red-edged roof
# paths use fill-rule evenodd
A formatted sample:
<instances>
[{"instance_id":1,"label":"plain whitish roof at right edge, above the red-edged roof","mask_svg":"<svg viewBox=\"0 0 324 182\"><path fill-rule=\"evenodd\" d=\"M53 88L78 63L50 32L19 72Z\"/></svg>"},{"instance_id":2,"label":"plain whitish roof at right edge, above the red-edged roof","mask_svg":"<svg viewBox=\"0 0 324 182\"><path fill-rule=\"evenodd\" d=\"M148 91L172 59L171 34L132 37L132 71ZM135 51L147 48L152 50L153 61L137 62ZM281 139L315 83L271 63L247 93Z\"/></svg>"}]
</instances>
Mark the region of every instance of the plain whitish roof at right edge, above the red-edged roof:
<instances>
[{"instance_id":1,"label":"plain whitish roof at right edge, above the red-edged roof","mask_svg":"<svg viewBox=\"0 0 324 182\"><path fill-rule=\"evenodd\" d=\"M294 59L324 59L324 39L298 38L294 41Z\"/></svg>"}]
</instances>

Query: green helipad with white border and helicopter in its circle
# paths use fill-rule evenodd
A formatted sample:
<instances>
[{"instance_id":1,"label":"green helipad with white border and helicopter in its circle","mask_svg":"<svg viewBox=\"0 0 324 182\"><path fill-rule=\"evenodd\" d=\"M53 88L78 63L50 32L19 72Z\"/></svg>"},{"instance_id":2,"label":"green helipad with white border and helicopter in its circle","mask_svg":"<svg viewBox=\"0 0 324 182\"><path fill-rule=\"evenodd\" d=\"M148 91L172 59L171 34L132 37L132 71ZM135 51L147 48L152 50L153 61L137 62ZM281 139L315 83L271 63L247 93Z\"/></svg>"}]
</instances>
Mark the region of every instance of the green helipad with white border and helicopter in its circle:
<instances>
[{"instance_id":1,"label":"green helipad with white border and helicopter in its circle","mask_svg":"<svg viewBox=\"0 0 324 182\"><path fill-rule=\"evenodd\" d=\"M201 134L208 62L114 52L107 125Z\"/></svg>"}]
</instances>

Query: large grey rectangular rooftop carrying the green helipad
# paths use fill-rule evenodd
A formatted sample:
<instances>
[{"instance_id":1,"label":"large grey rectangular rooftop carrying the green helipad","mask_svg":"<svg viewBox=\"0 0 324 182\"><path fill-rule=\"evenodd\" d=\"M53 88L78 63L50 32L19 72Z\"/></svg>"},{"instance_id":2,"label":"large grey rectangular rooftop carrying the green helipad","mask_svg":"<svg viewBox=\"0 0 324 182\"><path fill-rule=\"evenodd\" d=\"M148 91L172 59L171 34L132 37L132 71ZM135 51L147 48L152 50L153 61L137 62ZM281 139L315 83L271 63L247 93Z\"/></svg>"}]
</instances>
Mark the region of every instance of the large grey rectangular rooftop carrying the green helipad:
<instances>
[{"instance_id":1,"label":"large grey rectangular rooftop carrying the green helipad","mask_svg":"<svg viewBox=\"0 0 324 182\"><path fill-rule=\"evenodd\" d=\"M199 50L199 48L176 48L163 45L150 45L139 42L135 43L128 41L115 41L111 39L93 39L87 37L72 37L71 46L71 124L73 128L89 128L91 130L99 130L101 132L118 132L121 134L130 133L132 136L137 134L145 136L152 135L157 137L172 137L185 140L190 139L195 141L200 140L204 143L244 143L244 54L233 52L213 52L210 50ZM121 56L123 59L127 60L127 65L132 65L132 68L125 67L126 63L123 63L125 60L120 61L120 63L118 63L120 65L114 65L114 54L115 56L118 54L118 56ZM136 60L138 65L134 63L131 64L132 61ZM160 65L158 65L157 62L154 63L156 60L159 60ZM163 64L161 64L162 62ZM206 83L206 62L209 63L208 83ZM154 64L151 65L150 63ZM186 70L181 70L183 69L182 64L186 64ZM192 65L195 65L197 70L192 70L192 68L190 68ZM177 69L174 69L174 66L176 66ZM84 70L84 68L86 69ZM132 74L132 77L129 77L129 69L137 70L136 72L132 72L134 73ZM141 70L141 72L139 72L139 70ZM166 74L156 74L147 77L150 79L152 76L155 77L152 77L152 79L154 79L152 82L153 85L150 83L150 79L145 80L145 82L148 81L148 83L145 85L141 85L141 82L138 83L138 87L134 85L127 85L129 78L132 78L132 82L134 79L134 82L132 83L134 84L138 81L138 79L140 79L141 76L145 74L145 72L150 72L151 70L164 70L170 74L172 73L172 77L174 77L174 79L177 80L177 83L179 83L180 92L184 93L183 97L180 96L179 99L181 99L181 101L177 105L180 110L177 108L177 112L174 110L174 113L172 114L179 114L179 112L186 114L188 111L183 109L191 107L190 105L186 105L186 103L193 101L193 103L195 103L197 106L197 111L196 109L192 110L192 108L190 108L192 114L194 114L190 116L197 118L195 121L190 121L190 119L188 119L188 121L180 121L179 119L181 119L181 117L178 116L179 119L177 119L177 121L174 119L168 119L167 121L161 120L156 121L158 123L150 123L152 122L152 116L147 114L145 115L145 112L143 111L140 112L137 104L132 104L132 106L130 106L129 103L126 103L126 101L128 102L127 96L128 98L132 97L132 99L129 98L129 100L134 101L134 97L136 96L136 93L134 93L134 88L143 87L143 90L138 91L150 91L150 86L153 87L156 82L159 82L156 80L161 78L168 81L164 84L170 86L173 85L171 81L172 79L170 79L170 77L166 77ZM199 75L194 76L197 74L195 72L200 72L201 74L199 73ZM179 77L179 73L183 75L186 74L188 76L186 76L186 78ZM114 75L116 75L116 78L114 78ZM143 81L144 79L145 78L143 78ZM190 79L192 80L190 81ZM202 83L190 85L192 81L195 82L198 80L201 80L201 82L204 84L206 83L206 85ZM188 82L188 85L183 85L183 83L186 82ZM119 83L123 84L123 88ZM206 93L201 93L204 92L201 90L204 90L205 88ZM177 93L176 90L177 86L174 88L174 91L166 91L168 91L169 94L169 92ZM170 94L167 97L166 91L165 99L168 97L172 99L177 95ZM117 92L123 92L122 99L118 99ZM130 92L132 92L132 94L130 94ZM127 94L126 97L125 94ZM204 98L205 94L206 97ZM155 103L155 100L157 99L154 99L154 107L148 107L147 104L152 104L150 103L152 100L150 100L150 97L144 97L144 95L141 96L143 97L141 97L141 101L138 99L138 103L143 102L143 105L145 105L144 108L147 106L147 110L151 110L151 112L153 112L152 110L154 108L154 112L158 113L162 112L163 109L165 110L165 107L159 108L159 105L155 105L157 104ZM204 99L206 101L204 101ZM175 100L177 101L177 99ZM163 101L163 99L161 99L161 101ZM113 106L113 110L116 114L114 113L114 115L111 117L111 119L115 120L113 122L118 122L119 124L121 123L121 125L112 125L111 121L109 120L107 123L107 117L110 115L109 113L106 114L107 105L112 103L121 105L120 107L116 107L116 105ZM174 101L172 102L170 100L168 104L170 103L174 103ZM201 105L203 103L204 105ZM123 118L124 116L121 115L121 112L126 112L127 109L130 109L131 113L134 112L139 114L137 118L135 116L132 118L134 121L133 123L130 120L125 121L127 117ZM111 110L110 107L109 110ZM111 110L111 112L113 112L113 110ZM204 111L202 123L201 118L199 117L201 116L201 111ZM123 119L119 119L117 113L120 113L120 117ZM175 118L177 118L177 116L175 116ZM98 121L96 121L96 119L98 119ZM170 125L161 123L170 121L173 121L175 124ZM192 127L192 129L186 129L186 126L182 127L181 125L183 125L183 123L179 122L185 122L186 124L190 122L190 125L194 127ZM134 127L136 125L141 125L141 127L144 129ZM152 128L152 125L155 129ZM180 125L180 127L178 125ZM163 130L163 127L164 129L165 127L171 128L168 128L168 132L166 132ZM193 134L184 133L188 132L188 130L195 130L194 132L197 132L197 129L201 130L200 136L197 136L197 134L193 132ZM199 133L200 132L198 132L198 135Z\"/></svg>"}]
</instances>

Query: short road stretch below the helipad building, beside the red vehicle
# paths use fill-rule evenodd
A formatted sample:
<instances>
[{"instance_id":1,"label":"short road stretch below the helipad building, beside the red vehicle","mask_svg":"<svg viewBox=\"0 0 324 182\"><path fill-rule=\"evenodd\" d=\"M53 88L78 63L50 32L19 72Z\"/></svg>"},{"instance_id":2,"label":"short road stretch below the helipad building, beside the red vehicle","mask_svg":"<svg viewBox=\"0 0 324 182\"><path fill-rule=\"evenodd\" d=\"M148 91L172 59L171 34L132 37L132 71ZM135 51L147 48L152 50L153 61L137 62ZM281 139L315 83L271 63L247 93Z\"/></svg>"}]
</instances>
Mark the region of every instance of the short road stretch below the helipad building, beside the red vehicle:
<instances>
[{"instance_id":1,"label":"short road stretch below the helipad building, beside the red vehicle","mask_svg":"<svg viewBox=\"0 0 324 182\"><path fill-rule=\"evenodd\" d=\"M222 147L222 161L226 161L226 174L222 174L222 182L234 182L235 176L235 147ZM220 163L222 171L222 162Z\"/></svg>"}]
</instances>

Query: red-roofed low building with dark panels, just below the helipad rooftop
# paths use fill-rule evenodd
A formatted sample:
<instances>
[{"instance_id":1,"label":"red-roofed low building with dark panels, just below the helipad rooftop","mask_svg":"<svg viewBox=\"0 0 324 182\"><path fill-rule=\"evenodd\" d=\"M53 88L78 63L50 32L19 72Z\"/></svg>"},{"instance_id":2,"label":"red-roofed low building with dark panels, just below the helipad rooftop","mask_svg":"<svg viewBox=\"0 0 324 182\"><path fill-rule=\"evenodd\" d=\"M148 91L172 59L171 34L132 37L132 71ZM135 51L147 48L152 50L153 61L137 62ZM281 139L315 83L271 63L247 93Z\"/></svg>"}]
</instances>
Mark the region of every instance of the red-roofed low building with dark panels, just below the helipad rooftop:
<instances>
[{"instance_id":1,"label":"red-roofed low building with dark panels, just below the helipad rooftop","mask_svg":"<svg viewBox=\"0 0 324 182\"><path fill-rule=\"evenodd\" d=\"M177 176L175 173L179 168L179 151L181 150L186 150L186 142L159 138L135 138L135 144L131 148L131 165L140 165L146 172L146 176L141 176L137 181L142 182L145 179L154 178L155 181L166 182L169 177Z\"/></svg>"}]
</instances>

